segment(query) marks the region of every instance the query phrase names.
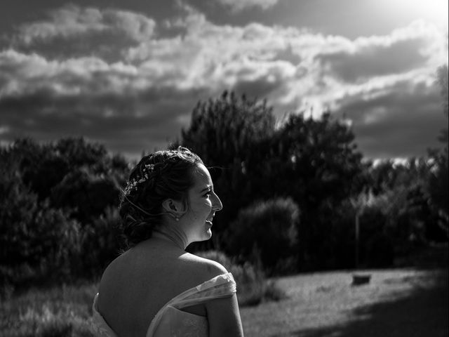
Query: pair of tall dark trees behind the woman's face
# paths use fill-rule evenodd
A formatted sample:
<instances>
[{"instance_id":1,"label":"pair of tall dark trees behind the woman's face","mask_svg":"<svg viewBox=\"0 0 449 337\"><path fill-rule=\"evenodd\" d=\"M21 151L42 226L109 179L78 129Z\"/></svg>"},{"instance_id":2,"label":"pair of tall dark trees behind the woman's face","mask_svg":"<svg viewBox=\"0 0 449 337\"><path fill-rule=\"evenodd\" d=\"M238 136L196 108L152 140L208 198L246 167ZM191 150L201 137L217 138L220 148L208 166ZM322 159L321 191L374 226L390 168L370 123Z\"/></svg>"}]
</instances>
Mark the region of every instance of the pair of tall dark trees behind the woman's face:
<instances>
[{"instance_id":1,"label":"pair of tall dark trees behind the woman's face","mask_svg":"<svg viewBox=\"0 0 449 337\"><path fill-rule=\"evenodd\" d=\"M361 154L349 126L328 113L321 119L290 114L275 126L264 101L225 92L215 101L199 102L181 143L212 168L224 205L215 218L220 249L229 251L231 241L224 233L230 232L239 210L256 200L291 197L302 210L297 232L304 260L316 255L326 234L318 213L321 205L336 205L363 187Z\"/></svg>"}]
</instances>

